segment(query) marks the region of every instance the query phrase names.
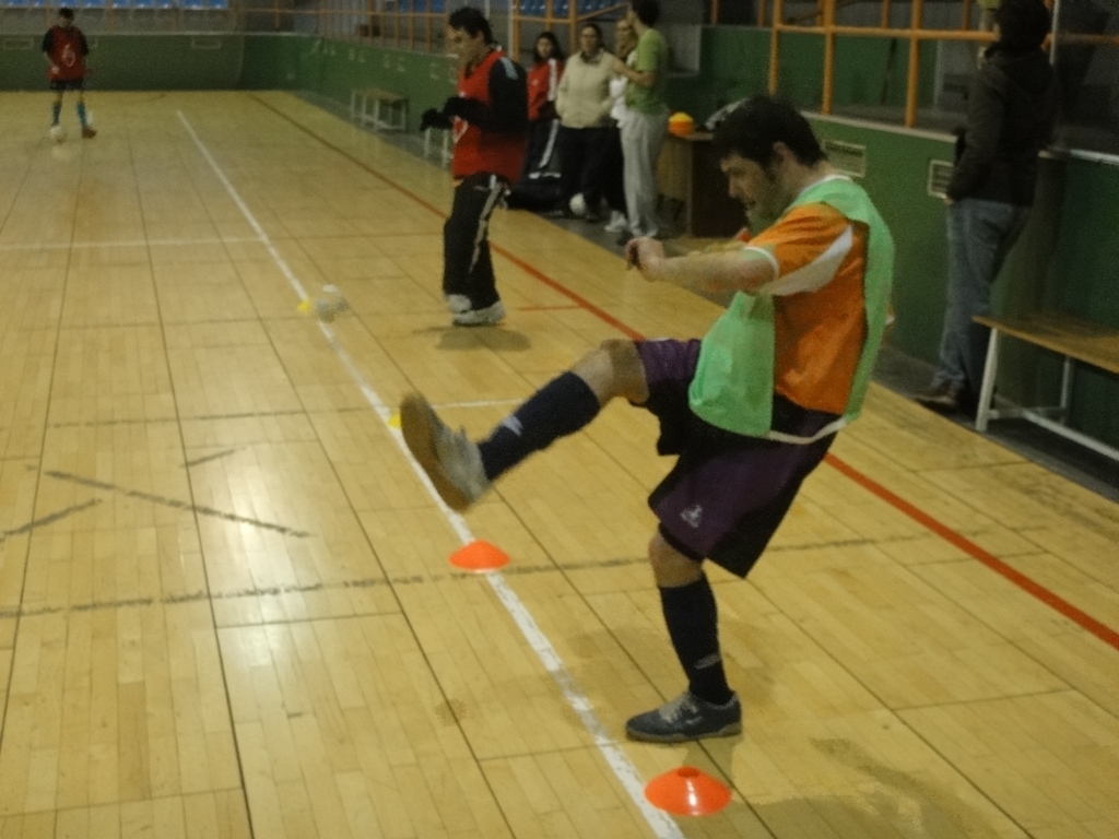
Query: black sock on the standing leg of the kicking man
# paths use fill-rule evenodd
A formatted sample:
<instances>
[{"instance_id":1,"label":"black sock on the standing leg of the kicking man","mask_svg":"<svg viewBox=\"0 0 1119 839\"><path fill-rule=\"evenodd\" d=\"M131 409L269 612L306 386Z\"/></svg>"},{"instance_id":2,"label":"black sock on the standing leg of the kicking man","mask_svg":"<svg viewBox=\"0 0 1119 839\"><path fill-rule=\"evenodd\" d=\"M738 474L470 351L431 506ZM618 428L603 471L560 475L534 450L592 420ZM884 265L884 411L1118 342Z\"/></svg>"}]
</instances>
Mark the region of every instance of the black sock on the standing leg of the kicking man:
<instances>
[{"instance_id":1,"label":"black sock on the standing leg of the kicking man","mask_svg":"<svg viewBox=\"0 0 1119 839\"><path fill-rule=\"evenodd\" d=\"M723 671L718 611L707 577L675 588L661 588L660 605L676 657L688 677L688 690L713 705L726 705L733 692Z\"/></svg>"}]
</instances>

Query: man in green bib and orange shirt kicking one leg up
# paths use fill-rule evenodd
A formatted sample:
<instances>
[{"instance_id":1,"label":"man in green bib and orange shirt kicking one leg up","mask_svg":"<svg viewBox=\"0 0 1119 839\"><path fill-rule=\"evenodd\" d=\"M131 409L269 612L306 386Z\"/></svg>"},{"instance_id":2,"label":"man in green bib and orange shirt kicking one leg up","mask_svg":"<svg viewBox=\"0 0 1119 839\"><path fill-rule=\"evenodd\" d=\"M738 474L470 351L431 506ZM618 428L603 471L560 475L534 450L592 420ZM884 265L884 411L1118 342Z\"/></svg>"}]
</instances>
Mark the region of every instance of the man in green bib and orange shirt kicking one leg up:
<instances>
[{"instance_id":1,"label":"man in green bib and orange shirt kicking one leg up","mask_svg":"<svg viewBox=\"0 0 1119 839\"><path fill-rule=\"evenodd\" d=\"M713 143L753 238L674 258L650 238L626 248L646 280L727 305L703 340L608 340L477 443L419 394L401 405L408 447L455 510L617 396L658 417L657 451L678 460L649 498L659 519L649 562L688 687L626 730L662 743L742 729L703 563L744 577L836 432L858 415L893 276L885 223L791 104L755 96Z\"/></svg>"}]
</instances>

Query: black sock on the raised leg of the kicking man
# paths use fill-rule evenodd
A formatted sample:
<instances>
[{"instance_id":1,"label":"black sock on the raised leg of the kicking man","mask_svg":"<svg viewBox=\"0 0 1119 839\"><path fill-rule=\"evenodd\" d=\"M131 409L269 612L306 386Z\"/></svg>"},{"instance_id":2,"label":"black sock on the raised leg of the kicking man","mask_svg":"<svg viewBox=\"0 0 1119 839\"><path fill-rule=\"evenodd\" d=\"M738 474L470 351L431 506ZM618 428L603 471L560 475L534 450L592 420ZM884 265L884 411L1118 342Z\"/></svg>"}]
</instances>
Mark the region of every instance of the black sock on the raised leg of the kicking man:
<instances>
[{"instance_id":1,"label":"black sock on the raised leg of the kicking man","mask_svg":"<svg viewBox=\"0 0 1119 839\"><path fill-rule=\"evenodd\" d=\"M600 407L591 386L574 373L552 379L478 444L486 477L496 480L533 452L574 434Z\"/></svg>"}]
</instances>

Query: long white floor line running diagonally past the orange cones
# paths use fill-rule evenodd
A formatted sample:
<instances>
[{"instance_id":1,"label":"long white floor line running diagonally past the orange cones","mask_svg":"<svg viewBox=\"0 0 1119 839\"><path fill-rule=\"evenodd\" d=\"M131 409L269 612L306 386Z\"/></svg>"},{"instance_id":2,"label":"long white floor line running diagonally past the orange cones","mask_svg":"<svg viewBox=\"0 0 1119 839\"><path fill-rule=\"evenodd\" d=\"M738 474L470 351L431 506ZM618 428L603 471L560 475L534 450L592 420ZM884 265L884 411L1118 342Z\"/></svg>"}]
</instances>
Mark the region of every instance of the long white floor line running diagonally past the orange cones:
<instances>
[{"instance_id":1,"label":"long white floor line running diagonally past the orange cones","mask_svg":"<svg viewBox=\"0 0 1119 839\"><path fill-rule=\"evenodd\" d=\"M245 202L241 199L241 196L237 195L237 190L234 189L233 185L229 182L229 179L225 177L225 173L218 167L217 162L215 162L209 151L203 144L203 141L198 139L198 135L195 133L195 130L190 126L190 123L187 122L187 117L182 114L181 111L179 111L178 114L179 114L179 120L182 121L182 125L187 130L187 133L190 134L190 139L194 140L195 145L198 147L198 151L201 152L201 155L206 159L206 162L210 164L210 168L214 170L214 173L217 176L218 180L222 181L222 185L225 187L226 191L229 194L229 197L233 199L233 201L241 209L242 214L245 216L245 219L248 221L252 228L256 230L257 236L260 236L261 243L267 248L269 253L272 254L272 258L275 261L276 266L280 268L283 275L288 277L288 282L291 283L292 289L294 289L295 293L299 295L299 299L304 300L307 298L307 293L303 290L303 285L299 282L299 279L292 272L288 263L284 262L280 253L272 246L272 243L269 241L267 234L265 234L263 228L261 228L261 226L256 223L256 219L253 217L253 214L250 211L248 207L245 206ZM354 378L354 381L360 388L361 394L366 398L366 402L369 403L369 405L376 412L377 416L379 416L380 421L385 424L385 427L387 427L389 433L392 433L393 440L396 441L396 445L399 446L402 452L404 452L404 455L408 459L408 462L412 464L412 470L420 477L423 484L427 488L427 492L430 492L431 497L435 499L435 501L439 503L440 509L443 511L443 515L446 517L446 520L454 529L454 532L458 534L459 538L462 540L462 544L467 545L473 541L474 536L470 531L470 528L467 527L467 522L463 520L461 516L459 516L457 512L454 512L449 507L446 507L446 505L443 503L442 499L440 499L439 497L439 493L435 492L435 488L432 487L431 481L427 479L426 473L423 471L420 464L416 463L416 461L412 458L411 452L408 452L408 447L404 442L404 435L399 432L398 428L394 428L389 424L389 418L394 412L391 411L387 405L385 405L382 398L377 395L377 392L374 390L372 387L369 387L368 383L366 383L365 377L361 375L361 371L358 370L357 366L354 364L354 359L350 358L350 355L338 342L337 338L335 337L335 331L328 324L321 321L319 322L319 329L322 330L322 334L326 337L327 342L330 345L331 349L333 349L335 352L338 355L338 358L341 360L342 365L349 371L350 376ZM610 733L606 730L606 727L595 715L594 707L592 706L591 700L586 698L586 695L583 694L583 691L580 689L579 685L575 682L575 679L572 678L571 673L567 671L566 666L563 663L563 659L560 658L560 654L555 651L555 648L552 645L552 642L548 641L547 635L545 635L544 632L540 630L540 628L536 624L536 621L533 619L532 613L521 602L520 597L518 597L516 592L514 592L509 587L508 583L506 583L505 575L499 572L489 572L485 576L487 582L493 588L495 594L497 594L498 600L500 600L501 603L505 605L506 610L509 612L509 615L517 624L517 628L520 630L521 634L524 634L525 640L528 641L528 644L536 652L537 657L540 659L540 662L544 664L545 669L548 671L548 673L551 673L556 685L558 685L560 690L563 692L564 699L567 700L567 704L579 716L580 720L582 720L583 726L594 738L594 745L598 746L599 752L605 758L606 763L610 765L610 769L613 771L614 775L617 775L622 786L626 788L626 791L633 800L633 803L637 804L638 809L641 811L641 814L645 817L645 820L648 822L649 827L652 828L653 833L656 833L656 836L661 839L684 839L684 833L680 831L676 822L673 821L671 817L669 817L665 811L655 808L651 803L649 803L648 799L646 799L645 781L641 777L641 774L637 771L637 766L633 765L633 763L630 761L629 756L626 754L622 747L618 745L618 743L610 736Z\"/></svg>"}]
</instances>

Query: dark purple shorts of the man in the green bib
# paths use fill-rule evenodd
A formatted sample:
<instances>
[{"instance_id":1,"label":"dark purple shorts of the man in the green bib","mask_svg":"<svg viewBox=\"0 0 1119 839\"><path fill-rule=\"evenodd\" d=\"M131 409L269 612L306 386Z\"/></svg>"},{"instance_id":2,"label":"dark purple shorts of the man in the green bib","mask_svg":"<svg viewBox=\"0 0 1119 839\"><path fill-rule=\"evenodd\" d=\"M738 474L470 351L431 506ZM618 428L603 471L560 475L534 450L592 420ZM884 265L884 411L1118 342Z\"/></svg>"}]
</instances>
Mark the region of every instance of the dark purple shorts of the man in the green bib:
<instances>
[{"instance_id":1,"label":"dark purple shorts of the man in the green bib","mask_svg":"<svg viewBox=\"0 0 1119 839\"><path fill-rule=\"evenodd\" d=\"M688 405L699 341L639 341L649 400L660 421L657 451L676 454L673 471L649 496L666 541L692 559L711 559L746 576L835 434L800 445L747 437L705 423ZM773 425L809 436L836 416L780 396Z\"/></svg>"}]
</instances>

